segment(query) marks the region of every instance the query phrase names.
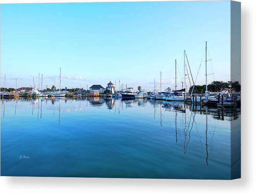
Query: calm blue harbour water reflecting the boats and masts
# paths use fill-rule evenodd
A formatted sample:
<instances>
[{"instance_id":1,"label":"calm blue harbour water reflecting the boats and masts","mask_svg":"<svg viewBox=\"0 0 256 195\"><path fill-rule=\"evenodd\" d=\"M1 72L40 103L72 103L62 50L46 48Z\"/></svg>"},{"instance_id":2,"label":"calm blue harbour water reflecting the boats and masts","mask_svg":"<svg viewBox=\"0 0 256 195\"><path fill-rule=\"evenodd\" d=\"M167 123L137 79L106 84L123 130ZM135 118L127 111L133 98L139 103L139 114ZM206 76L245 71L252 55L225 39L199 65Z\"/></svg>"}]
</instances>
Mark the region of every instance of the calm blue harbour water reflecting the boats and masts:
<instances>
[{"instance_id":1,"label":"calm blue harbour water reflecting the boats and masts","mask_svg":"<svg viewBox=\"0 0 256 195\"><path fill-rule=\"evenodd\" d=\"M155 100L1 99L1 175L230 179L239 118Z\"/></svg>"}]
</instances>

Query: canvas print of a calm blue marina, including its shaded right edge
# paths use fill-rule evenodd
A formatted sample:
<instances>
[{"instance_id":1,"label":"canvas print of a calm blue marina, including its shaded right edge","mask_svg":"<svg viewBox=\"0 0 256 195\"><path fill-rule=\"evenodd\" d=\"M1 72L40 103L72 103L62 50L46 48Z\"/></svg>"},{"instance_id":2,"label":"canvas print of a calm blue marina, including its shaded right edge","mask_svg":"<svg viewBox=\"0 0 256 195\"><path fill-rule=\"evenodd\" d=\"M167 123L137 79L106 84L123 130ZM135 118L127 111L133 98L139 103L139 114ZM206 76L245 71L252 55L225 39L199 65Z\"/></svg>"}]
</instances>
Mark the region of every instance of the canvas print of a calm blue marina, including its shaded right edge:
<instances>
[{"instance_id":1,"label":"canvas print of a calm blue marina, including its shaded right edge","mask_svg":"<svg viewBox=\"0 0 256 195\"><path fill-rule=\"evenodd\" d=\"M239 2L0 11L1 176L241 177Z\"/></svg>"}]
</instances>

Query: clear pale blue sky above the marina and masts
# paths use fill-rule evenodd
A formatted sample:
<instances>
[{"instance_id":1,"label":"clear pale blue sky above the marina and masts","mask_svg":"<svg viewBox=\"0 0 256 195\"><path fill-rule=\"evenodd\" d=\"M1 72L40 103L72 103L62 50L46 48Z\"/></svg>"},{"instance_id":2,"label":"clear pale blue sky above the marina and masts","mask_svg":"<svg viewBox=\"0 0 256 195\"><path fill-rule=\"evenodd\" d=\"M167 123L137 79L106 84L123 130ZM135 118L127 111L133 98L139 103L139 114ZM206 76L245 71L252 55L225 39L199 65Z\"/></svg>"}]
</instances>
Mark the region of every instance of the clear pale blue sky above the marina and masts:
<instances>
[{"instance_id":1,"label":"clear pale blue sky above the marina and masts","mask_svg":"<svg viewBox=\"0 0 256 195\"><path fill-rule=\"evenodd\" d=\"M208 82L230 80L230 2L35 3L1 5L1 86L27 87L38 73L62 88L106 86L109 81L174 88L187 52L194 79L205 41L212 59ZM196 84L205 83L204 59ZM41 79L41 78L40 78ZM40 81L41 82L41 81ZM187 81L188 82L188 81ZM41 84L40 84L41 86ZM188 86L189 87L189 86Z\"/></svg>"}]
</instances>

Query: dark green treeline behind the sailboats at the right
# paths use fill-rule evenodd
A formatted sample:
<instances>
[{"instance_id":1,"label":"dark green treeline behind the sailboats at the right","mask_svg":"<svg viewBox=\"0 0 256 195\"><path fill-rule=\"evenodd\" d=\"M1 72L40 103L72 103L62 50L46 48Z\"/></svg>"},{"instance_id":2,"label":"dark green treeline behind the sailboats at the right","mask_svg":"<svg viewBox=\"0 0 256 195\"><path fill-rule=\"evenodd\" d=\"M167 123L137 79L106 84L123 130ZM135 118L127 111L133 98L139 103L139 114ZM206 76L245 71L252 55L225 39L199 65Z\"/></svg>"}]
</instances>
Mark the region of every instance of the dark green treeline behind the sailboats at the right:
<instances>
[{"instance_id":1,"label":"dark green treeline behind the sailboats at the right","mask_svg":"<svg viewBox=\"0 0 256 195\"><path fill-rule=\"evenodd\" d=\"M189 93L192 92L193 86L189 87ZM223 82L213 81L207 85L208 92L240 92L241 84L238 81ZM195 85L193 94L204 94L206 91L206 85Z\"/></svg>"}]
</instances>

